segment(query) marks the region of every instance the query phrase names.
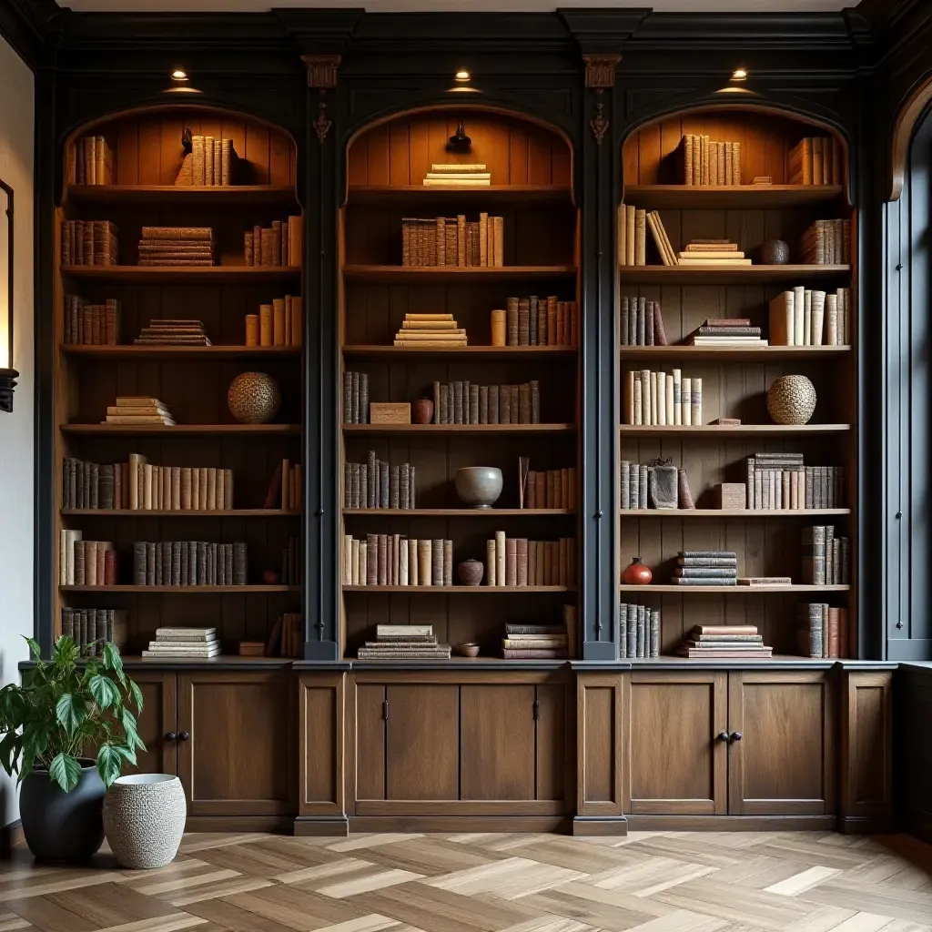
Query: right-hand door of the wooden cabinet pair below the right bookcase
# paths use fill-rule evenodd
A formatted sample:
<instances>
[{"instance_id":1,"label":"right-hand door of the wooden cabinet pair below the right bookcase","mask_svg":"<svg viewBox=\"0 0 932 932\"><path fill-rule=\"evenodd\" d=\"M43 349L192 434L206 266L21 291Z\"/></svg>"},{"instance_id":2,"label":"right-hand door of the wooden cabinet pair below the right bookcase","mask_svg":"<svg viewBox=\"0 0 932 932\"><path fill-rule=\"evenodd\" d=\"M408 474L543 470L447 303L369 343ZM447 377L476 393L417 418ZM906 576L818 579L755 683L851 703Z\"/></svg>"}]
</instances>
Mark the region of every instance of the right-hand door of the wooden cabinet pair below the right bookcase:
<instances>
[{"instance_id":1,"label":"right-hand door of the wooden cabinet pair below the right bookcase","mask_svg":"<svg viewBox=\"0 0 932 932\"><path fill-rule=\"evenodd\" d=\"M733 816L828 816L834 811L833 680L822 671L729 674Z\"/></svg>"}]
</instances>

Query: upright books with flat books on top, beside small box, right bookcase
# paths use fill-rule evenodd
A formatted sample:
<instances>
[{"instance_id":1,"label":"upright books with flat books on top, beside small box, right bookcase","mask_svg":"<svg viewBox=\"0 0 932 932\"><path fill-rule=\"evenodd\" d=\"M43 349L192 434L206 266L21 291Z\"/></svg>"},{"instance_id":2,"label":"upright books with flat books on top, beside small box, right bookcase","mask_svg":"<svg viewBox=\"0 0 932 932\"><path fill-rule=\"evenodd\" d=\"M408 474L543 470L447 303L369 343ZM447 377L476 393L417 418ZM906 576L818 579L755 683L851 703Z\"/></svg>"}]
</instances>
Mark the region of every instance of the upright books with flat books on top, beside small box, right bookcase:
<instances>
[{"instance_id":1,"label":"upright books with flat books on top, beside small box, right bookcase","mask_svg":"<svg viewBox=\"0 0 932 932\"><path fill-rule=\"evenodd\" d=\"M842 508L844 481L843 466L804 466L802 453L755 453L747 457L747 507Z\"/></svg>"}]
</instances>

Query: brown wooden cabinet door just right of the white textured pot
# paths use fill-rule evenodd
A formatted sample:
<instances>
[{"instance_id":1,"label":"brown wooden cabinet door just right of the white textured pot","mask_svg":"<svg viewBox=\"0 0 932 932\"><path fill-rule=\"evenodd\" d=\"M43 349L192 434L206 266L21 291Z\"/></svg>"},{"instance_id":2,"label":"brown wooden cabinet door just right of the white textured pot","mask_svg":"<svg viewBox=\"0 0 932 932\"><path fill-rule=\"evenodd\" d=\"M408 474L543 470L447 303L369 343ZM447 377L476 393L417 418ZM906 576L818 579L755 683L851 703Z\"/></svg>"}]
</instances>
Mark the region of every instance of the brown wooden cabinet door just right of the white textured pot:
<instances>
[{"instance_id":1,"label":"brown wooden cabinet door just right of the white textured pot","mask_svg":"<svg viewBox=\"0 0 932 932\"><path fill-rule=\"evenodd\" d=\"M192 816L295 810L294 684L286 674L179 678L179 768Z\"/></svg>"}]
</instances>

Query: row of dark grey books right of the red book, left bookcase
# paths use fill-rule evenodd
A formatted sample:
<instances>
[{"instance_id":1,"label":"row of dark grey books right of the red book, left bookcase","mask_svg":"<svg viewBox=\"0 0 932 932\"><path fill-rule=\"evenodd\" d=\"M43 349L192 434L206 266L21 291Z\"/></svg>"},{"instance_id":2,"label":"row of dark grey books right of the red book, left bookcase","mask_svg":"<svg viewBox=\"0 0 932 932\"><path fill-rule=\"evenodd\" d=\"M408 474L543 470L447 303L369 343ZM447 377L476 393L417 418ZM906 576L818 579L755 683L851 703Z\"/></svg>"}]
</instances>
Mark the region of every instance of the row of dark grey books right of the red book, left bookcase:
<instances>
[{"instance_id":1,"label":"row of dark grey books right of the red book, left bookcase","mask_svg":"<svg viewBox=\"0 0 932 932\"><path fill-rule=\"evenodd\" d=\"M246 585L246 544L135 541L133 585Z\"/></svg>"}]
</instances>

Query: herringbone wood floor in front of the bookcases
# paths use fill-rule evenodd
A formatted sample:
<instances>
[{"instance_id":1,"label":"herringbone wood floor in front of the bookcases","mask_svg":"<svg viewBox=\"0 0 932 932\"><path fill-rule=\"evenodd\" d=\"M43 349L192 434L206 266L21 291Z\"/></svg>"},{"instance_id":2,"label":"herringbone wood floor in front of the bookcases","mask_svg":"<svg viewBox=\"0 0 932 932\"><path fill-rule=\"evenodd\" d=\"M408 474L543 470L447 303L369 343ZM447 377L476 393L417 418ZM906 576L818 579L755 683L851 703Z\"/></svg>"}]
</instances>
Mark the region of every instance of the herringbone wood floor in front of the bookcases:
<instances>
[{"instance_id":1,"label":"herringbone wood floor in front of the bookcases","mask_svg":"<svg viewBox=\"0 0 932 932\"><path fill-rule=\"evenodd\" d=\"M830 832L188 835L162 870L0 866L0 932L932 932L932 848Z\"/></svg>"}]
</instances>

